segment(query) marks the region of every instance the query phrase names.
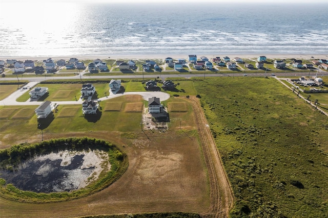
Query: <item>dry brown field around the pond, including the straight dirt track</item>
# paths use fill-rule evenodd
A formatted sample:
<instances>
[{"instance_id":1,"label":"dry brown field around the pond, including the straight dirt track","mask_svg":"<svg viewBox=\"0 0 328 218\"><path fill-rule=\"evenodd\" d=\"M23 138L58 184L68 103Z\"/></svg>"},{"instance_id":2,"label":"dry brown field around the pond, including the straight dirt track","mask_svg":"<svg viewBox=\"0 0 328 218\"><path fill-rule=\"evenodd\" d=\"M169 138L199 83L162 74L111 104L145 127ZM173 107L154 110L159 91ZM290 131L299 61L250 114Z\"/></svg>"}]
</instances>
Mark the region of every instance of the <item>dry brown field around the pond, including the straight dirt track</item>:
<instances>
[{"instance_id":1,"label":"dry brown field around the pond, including the straight dirt track","mask_svg":"<svg viewBox=\"0 0 328 218\"><path fill-rule=\"evenodd\" d=\"M129 168L110 187L69 202L24 204L0 198L1 216L76 217L181 211L227 217L234 203L232 190L198 99L191 99L190 104L194 113L189 120L193 121L183 120L181 129L177 124L166 132L144 129L127 138L121 132L109 131L48 133L46 139L89 136L109 140L128 154ZM178 120L173 113L170 118ZM197 125L190 126L194 123ZM201 144L197 135L192 134L194 130L198 130ZM39 136L30 136L26 140L37 139Z\"/></svg>"}]
</instances>

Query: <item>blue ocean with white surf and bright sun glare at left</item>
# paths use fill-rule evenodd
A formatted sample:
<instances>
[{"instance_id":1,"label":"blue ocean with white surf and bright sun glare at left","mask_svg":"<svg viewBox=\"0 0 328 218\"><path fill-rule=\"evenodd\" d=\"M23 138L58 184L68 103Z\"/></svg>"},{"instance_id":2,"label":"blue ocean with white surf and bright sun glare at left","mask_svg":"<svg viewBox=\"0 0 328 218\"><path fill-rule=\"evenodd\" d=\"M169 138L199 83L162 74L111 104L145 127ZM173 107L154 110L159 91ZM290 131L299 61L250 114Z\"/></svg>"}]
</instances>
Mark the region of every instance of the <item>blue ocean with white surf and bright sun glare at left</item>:
<instances>
[{"instance_id":1,"label":"blue ocean with white surf and bright sun glare at left","mask_svg":"<svg viewBox=\"0 0 328 218\"><path fill-rule=\"evenodd\" d=\"M1 8L0 57L328 55L328 4L22 1Z\"/></svg>"}]
</instances>

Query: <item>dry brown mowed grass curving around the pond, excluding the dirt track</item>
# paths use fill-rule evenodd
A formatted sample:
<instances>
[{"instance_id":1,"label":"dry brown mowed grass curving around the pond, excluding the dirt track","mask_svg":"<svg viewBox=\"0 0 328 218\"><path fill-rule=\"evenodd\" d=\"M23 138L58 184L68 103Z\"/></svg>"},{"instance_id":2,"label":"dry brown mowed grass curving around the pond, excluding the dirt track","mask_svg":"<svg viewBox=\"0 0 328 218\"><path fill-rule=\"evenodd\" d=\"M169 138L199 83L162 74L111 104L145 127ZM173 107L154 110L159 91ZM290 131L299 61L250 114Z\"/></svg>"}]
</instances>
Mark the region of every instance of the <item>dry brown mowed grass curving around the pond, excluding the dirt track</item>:
<instances>
[{"instance_id":1,"label":"dry brown mowed grass curving around the pond, excluding the dirt track","mask_svg":"<svg viewBox=\"0 0 328 218\"><path fill-rule=\"evenodd\" d=\"M6 217L76 217L94 214L185 211L208 213L209 186L196 138L175 132L47 134L50 138L88 136L110 140L129 156L127 172L110 187L69 202L24 204L0 198ZM170 139L168 139L170 138ZM123 147L124 146L124 147Z\"/></svg>"}]
</instances>

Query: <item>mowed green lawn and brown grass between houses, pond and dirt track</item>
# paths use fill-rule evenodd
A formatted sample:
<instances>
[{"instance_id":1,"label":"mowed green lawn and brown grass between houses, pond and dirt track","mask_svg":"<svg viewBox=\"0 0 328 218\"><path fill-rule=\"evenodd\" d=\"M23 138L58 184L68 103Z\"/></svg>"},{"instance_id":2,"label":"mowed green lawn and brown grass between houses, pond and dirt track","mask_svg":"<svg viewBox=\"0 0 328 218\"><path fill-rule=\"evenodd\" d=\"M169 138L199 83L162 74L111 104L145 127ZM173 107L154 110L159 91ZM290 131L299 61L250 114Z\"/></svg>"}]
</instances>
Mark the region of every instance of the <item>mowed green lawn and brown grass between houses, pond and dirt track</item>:
<instances>
[{"instance_id":1,"label":"mowed green lawn and brown grass between houses, pond and dirt track","mask_svg":"<svg viewBox=\"0 0 328 218\"><path fill-rule=\"evenodd\" d=\"M59 137L96 137L109 140L128 154L127 172L110 187L86 198L69 202L25 204L0 198L4 217L77 217L95 214L210 211L206 164L187 99L170 98L166 104L183 105L183 112L170 112L167 132L141 131L140 95L124 95L102 101L101 117L88 122L78 106L60 105L51 124L43 130L45 140ZM10 117L12 114L4 110ZM22 110L17 107L15 110ZM5 114L4 113L4 114ZM4 116L4 115L3 115ZM180 129L180 118L182 126ZM3 119L2 119L3 121ZM40 141L36 117L17 122L9 118L1 129L1 148L19 142ZM19 131L17 131L19 130Z\"/></svg>"}]
</instances>

